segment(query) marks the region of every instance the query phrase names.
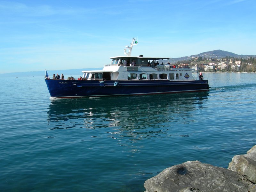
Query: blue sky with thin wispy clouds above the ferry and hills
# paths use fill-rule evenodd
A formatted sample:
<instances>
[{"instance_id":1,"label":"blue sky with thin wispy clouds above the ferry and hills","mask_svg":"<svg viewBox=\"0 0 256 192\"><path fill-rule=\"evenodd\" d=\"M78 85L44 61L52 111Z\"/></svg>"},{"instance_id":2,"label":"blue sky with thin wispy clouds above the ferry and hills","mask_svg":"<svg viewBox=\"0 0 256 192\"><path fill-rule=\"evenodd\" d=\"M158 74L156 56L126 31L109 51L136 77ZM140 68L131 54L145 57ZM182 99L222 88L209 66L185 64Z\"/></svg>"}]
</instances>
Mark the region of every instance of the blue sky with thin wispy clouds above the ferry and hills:
<instances>
[{"instance_id":1,"label":"blue sky with thin wispy clouds above the ferry and hills","mask_svg":"<svg viewBox=\"0 0 256 192\"><path fill-rule=\"evenodd\" d=\"M94 68L124 55L256 55L255 0L0 0L0 73Z\"/></svg>"}]
</instances>

